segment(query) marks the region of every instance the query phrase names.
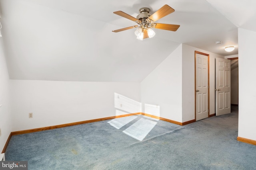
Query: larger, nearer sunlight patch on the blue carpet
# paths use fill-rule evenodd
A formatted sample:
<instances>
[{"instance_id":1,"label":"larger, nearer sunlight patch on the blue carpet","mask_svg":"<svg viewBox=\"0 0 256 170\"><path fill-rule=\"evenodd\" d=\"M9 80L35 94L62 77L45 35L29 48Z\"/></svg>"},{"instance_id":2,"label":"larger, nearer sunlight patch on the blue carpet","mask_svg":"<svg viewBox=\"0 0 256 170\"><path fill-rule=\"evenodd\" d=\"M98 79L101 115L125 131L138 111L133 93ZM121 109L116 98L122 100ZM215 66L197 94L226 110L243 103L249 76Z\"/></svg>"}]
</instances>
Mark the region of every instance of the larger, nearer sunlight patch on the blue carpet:
<instances>
[{"instance_id":1,"label":"larger, nearer sunlight patch on the blue carpet","mask_svg":"<svg viewBox=\"0 0 256 170\"><path fill-rule=\"evenodd\" d=\"M156 124L157 122L155 121L141 118L133 125L125 129L123 133L129 135L130 137L133 137L134 139L137 139L138 141L142 141Z\"/></svg>"}]
</instances>

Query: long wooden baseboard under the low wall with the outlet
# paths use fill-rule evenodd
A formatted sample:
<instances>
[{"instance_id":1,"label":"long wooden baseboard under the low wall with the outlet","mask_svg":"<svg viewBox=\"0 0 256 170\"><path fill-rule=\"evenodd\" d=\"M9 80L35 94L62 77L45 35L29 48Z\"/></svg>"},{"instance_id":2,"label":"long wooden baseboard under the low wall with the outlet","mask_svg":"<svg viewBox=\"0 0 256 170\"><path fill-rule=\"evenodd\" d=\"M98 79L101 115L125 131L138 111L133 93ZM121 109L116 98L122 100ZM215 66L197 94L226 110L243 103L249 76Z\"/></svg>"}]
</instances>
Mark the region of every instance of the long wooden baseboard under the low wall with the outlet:
<instances>
[{"instance_id":1,"label":"long wooden baseboard under the low wall with the outlet","mask_svg":"<svg viewBox=\"0 0 256 170\"><path fill-rule=\"evenodd\" d=\"M115 118L120 118L120 117L126 117L126 116L131 116L131 115L140 115L141 113L130 113L126 115L118 115L118 116L111 116L111 117L104 117L100 119L92 119L92 120L86 120L86 121L78 121L74 123L66 123L62 125L54 125L54 126L48 126L48 127L40 127L36 129L28 129L28 130L23 130L23 131L14 131L12 132L12 135L21 135L25 133L32 133L32 132L38 132L38 131L45 131L45 130L50 130L50 129L56 129L56 128L61 128L61 127L68 127L68 126L74 126L74 125L81 125L85 123L93 123L96 121L103 121L103 120L108 120L108 119L115 119Z\"/></svg>"}]
</instances>

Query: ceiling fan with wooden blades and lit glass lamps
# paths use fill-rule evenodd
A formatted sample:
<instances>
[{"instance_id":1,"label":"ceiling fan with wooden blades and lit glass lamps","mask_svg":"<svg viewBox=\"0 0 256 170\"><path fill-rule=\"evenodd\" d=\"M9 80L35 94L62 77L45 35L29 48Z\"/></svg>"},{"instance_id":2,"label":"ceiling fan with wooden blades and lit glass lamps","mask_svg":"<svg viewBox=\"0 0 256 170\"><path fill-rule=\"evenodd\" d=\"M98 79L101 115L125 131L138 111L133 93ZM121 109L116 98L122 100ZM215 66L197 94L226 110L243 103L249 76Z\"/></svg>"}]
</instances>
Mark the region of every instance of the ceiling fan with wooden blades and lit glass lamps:
<instances>
[{"instance_id":1,"label":"ceiling fan with wooden blades and lit glass lamps","mask_svg":"<svg viewBox=\"0 0 256 170\"><path fill-rule=\"evenodd\" d=\"M145 38L152 38L156 34L151 28L156 29L165 29L168 31L176 31L180 25L173 25L173 24L166 24L166 23L155 23L155 21L159 20L160 18L163 18L164 16L167 16L174 12L174 9L172 9L168 5L162 6L159 10L157 10L154 14L150 15L150 9L149 8L140 8L139 10L140 14L137 16L137 18L134 18L122 11L116 11L114 14L117 14L119 16L122 16L124 18L127 18L129 20L132 20L136 22L138 25L134 25L131 27L126 27L122 29L114 30L113 32L117 33L120 31L125 31L127 29L137 28L134 32L137 36L137 39L143 40Z\"/></svg>"}]
</instances>

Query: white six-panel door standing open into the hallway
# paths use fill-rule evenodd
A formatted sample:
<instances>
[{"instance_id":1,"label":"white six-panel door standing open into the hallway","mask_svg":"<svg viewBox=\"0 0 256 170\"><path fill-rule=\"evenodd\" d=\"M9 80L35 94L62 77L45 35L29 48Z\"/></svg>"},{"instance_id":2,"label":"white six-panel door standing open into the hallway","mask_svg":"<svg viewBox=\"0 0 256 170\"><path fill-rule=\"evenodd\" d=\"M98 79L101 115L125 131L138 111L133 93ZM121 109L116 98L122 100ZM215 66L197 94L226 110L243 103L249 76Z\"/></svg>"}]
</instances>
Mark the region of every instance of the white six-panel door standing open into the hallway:
<instances>
[{"instance_id":1,"label":"white six-panel door standing open into the hallway","mask_svg":"<svg viewBox=\"0 0 256 170\"><path fill-rule=\"evenodd\" d=\"M216 115L231 112L230 60L216 58Z\"/></svg>"}]
</instances>

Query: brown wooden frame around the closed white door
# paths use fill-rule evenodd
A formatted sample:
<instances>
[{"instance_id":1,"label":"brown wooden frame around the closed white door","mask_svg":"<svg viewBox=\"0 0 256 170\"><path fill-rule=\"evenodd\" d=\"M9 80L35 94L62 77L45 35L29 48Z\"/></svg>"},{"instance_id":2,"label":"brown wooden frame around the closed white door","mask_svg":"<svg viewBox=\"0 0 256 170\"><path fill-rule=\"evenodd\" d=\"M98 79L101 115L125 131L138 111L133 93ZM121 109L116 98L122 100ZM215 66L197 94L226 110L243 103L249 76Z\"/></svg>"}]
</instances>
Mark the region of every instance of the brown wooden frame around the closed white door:
<instances>
[{"instance_id":1,"label":"brown wooden frame around the closed white door","mask_svg":"<svg viewBox=\"0 0 256 170\"><path fill-rule=\"evenodd\" d=\"M194 84L194 96L195 96L195 120L196 120L196 54L205 55L208 57L208 117L210 117L210 55L202 53L200 51L195 51L195 84Z\"/></svg>"}]
</instances>

